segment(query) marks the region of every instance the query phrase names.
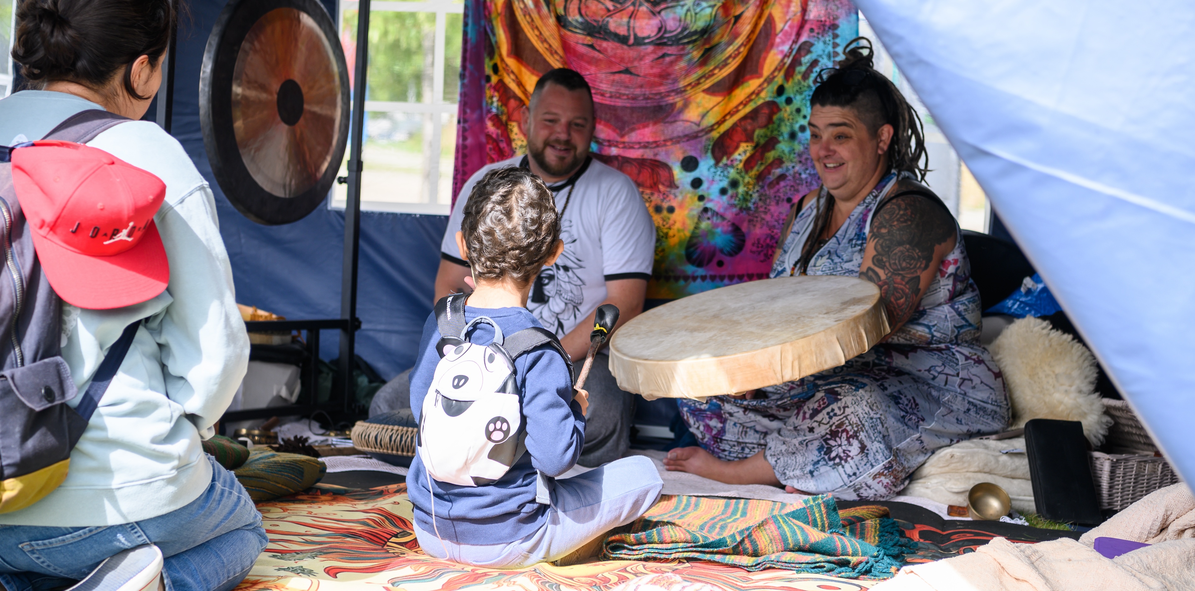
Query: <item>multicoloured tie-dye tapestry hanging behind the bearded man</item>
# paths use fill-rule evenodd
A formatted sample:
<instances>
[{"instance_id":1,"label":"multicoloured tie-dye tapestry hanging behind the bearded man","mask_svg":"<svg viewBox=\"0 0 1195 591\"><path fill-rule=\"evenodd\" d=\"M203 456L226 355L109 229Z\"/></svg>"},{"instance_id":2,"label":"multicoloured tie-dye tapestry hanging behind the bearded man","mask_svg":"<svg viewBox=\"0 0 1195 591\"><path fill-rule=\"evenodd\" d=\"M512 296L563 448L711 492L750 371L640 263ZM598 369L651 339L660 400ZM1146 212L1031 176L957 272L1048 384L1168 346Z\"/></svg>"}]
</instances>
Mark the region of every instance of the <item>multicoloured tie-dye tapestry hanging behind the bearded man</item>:
<instances>
[{"instance_id":1,"label":"multicoloured tie-dye tapestry hanging behind the bearded man","mask_svg":"<svg viewBox=\"0 0 1195 591\"><path fill-rule=\"evenodd\" d=\"M648 297L767 277L808 153L816 73L858 31L846 0L467 0L454 187L526 149L540 74L593 87L595 159L656 222Z\"/></svg>"}]
</instances>

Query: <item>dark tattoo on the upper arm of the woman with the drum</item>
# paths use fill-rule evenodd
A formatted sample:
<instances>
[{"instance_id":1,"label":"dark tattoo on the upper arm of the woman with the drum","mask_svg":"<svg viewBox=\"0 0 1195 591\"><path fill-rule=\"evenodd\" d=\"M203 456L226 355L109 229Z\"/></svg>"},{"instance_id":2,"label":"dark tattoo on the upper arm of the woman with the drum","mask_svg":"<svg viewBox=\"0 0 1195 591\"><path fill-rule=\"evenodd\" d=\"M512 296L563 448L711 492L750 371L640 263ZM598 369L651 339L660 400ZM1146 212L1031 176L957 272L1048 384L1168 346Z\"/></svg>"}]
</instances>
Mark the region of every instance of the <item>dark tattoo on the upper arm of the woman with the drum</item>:
<instances>
[{"instance_id":1,"label":"dark tattoo on the upper arm of the woman with the drum","mask_svg":"<svg viewBox=\"0 0 1195 591\"><path fill-rule=\"evenodd\" d=\"M880 285L893 330L917 310L921 273L933 264L934 248L954 236L950 214L923 196L895 197L876 214L868 235L875 254L859 277Z\"/></svg>"}]
</instances>

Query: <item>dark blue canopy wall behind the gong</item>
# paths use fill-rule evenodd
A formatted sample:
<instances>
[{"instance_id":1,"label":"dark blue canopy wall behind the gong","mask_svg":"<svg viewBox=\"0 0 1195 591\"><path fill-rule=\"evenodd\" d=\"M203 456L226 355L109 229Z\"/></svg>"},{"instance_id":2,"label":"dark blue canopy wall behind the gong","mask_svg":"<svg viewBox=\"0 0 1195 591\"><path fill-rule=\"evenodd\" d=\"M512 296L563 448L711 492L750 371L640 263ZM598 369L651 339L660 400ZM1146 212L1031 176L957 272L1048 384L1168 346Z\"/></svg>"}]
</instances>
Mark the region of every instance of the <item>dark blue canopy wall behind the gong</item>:
<instances>
[{"instance_id":1,"label":"dark blue canopy wall behind the gong","mask_svg":"<svg viewBox=\"0 0 1195 591\"><path fill-rule=\"evenodd\" d=\"M200 67L208 35L226 2L188 4L191 18L179 27L171 131L216 195L237 301L290 319L338 318L344 213L321 207L295 223L261 226L233 209L212 176L200 130ZM335 14L335 1L325 6ZM362 328L356 352L382 377L390 378L415 363L423 321L431 312L446 224L445 216L361 214L357 315ZM337 335L325 331L323 357L339 355Z\"/></svg>"}]
</instances>

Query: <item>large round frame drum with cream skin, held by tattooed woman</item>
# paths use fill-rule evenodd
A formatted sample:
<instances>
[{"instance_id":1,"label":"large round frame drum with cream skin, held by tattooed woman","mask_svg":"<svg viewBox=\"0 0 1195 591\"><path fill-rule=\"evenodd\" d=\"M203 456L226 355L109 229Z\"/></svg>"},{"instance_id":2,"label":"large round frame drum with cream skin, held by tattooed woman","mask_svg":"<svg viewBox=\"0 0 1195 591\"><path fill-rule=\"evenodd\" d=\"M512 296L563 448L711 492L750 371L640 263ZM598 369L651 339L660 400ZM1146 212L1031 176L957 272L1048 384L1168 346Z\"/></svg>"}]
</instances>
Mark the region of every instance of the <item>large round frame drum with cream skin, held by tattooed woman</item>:
<instances>
[{"instance_id":1,"label":"large round frame drum with cream skin, held by tattooed woman","mask_svg":"<svg viewBox=\"0 0 1195 591\"><path fill-rule=\"evenodd\" d=\"M609 343L619 388L705 398L776 386L835 368L889 332L876 284L801 276L713 289L652 308Z\"/></svg>"}]
</instances>

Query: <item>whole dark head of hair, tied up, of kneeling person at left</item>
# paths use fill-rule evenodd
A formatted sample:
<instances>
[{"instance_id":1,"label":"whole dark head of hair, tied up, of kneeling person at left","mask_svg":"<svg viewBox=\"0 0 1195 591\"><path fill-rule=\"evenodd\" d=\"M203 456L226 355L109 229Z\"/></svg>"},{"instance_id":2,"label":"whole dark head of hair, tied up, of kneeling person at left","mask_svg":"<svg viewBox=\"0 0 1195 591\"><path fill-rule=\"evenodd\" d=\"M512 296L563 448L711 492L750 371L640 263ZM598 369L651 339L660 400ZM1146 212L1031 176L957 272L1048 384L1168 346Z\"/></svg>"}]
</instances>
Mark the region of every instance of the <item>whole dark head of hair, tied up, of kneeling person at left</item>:
<instances>
[{"instance_id":1,"label":"whole dark head of hair, tied up, of kneeling person at left","mask_svg":"<svg viewBox=\"0 0 1195 591\"><path fill-rule=\"evenodd\" d=\"M99 90L129 66L157 62L177 13L171 0L24 0L17 6L12 59L32 82L69 80Z\"/></svg>"}]
</instances>

